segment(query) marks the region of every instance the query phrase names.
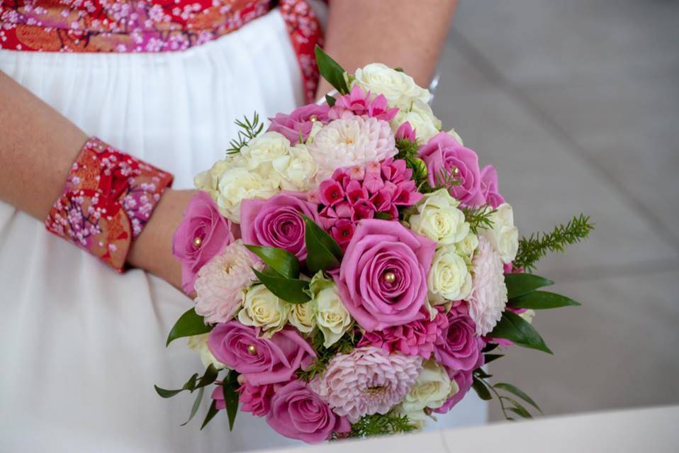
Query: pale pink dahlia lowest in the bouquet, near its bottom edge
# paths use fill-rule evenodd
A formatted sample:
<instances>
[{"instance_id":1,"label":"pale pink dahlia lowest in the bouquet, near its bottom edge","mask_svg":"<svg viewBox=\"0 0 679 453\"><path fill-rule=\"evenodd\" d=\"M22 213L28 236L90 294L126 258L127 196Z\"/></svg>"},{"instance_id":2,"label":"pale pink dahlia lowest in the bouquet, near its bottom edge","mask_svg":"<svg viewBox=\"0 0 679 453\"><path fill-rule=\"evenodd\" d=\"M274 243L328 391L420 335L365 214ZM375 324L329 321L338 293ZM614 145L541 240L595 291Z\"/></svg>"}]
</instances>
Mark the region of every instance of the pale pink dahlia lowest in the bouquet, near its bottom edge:
<instances>
[{"instance_id":1,"label":"pale pink dahlia lowest in the bouquet, near its bottom edge","mask_svg":"<svg viewBox=\"0 0 679 453\"><path fill-rule=\"evenodd\" d=\"M359 347L333 358L322 378L310 386L334 413L354 423L363 415L385 414L400 403L421 369L422 357Z\"/></svg>"}]
</instances>

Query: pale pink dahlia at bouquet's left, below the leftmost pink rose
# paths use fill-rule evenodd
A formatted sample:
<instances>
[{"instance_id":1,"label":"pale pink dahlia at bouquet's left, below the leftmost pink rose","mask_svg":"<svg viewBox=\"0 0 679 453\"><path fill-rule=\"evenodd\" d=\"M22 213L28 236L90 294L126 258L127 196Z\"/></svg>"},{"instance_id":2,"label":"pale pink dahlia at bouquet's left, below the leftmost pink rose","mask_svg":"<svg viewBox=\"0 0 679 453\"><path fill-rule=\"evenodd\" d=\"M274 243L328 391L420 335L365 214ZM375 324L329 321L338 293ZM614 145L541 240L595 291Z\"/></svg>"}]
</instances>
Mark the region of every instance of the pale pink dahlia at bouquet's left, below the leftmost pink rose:
<instances>
[{"instance_id":1,"label":"pale pink dahlia at bouquet's left, below the leftmost pink rose","mask_svg":"<svg viewBox=\"0 0 679 453\"><path fill-rule=\"evenodd\" d=\"M225 323L242 306L242 289L255 279L252 267L261 270L242 240L228 245L198 271L196 313L206 323Z\"/></svg>"}]
</instances>

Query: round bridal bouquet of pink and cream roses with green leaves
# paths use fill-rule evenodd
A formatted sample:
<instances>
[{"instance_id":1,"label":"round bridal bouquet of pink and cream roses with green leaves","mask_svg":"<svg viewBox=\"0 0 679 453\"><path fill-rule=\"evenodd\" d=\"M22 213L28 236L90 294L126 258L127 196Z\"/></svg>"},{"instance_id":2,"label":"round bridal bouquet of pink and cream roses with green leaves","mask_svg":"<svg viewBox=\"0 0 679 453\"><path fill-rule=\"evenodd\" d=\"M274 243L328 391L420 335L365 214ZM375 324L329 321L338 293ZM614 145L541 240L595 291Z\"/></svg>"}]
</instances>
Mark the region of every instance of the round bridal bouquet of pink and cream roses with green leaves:
<instances>
[{"instance_id":1,"label":"round bridal bouquet of pink and cream roses with green leaves","mask_svg":"<svg viewBox=\"0 0 679 453\"><path fill-rule=\"evenodd\" d=\"M265 417L305 442L405 432L447 413L470 388L507 418L539 410L519 388L491 384L497 347L551 352L534 311L576 306L529 273L585 238L573 218L519 238L495 169L427 104L400 69L347 74L320 48L337 94L270 118L255 114L200 189L174 236L195 306L167 343L189 337L206 369L203 426L224 410Z\"/></svg>"}]
</instances>

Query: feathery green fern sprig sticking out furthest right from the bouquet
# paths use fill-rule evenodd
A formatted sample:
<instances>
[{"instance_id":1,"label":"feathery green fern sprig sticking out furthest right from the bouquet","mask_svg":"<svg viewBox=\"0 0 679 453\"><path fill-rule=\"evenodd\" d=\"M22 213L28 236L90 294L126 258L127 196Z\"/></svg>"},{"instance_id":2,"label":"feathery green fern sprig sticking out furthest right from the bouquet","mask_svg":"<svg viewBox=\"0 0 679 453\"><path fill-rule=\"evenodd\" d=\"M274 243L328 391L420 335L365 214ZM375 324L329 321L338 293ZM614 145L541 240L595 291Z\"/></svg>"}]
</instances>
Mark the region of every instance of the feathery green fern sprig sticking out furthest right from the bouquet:
<instances>
[{"instance_id":1,"label":"feathery green fern sprig sticking out furthest right from the bouquet","mask_svg":"<svg viewBox=\"0 0 679 453\"><path fill-rule=\"evenodd\" d=\"M575 216L566 225L557 225L551 233L533 233L519 240L519 251L514 266L520 269L534 269L535 263L547 252L562 252L566 246L585 240L594 230L589 216Z\"/></svg>"}]
</instances>

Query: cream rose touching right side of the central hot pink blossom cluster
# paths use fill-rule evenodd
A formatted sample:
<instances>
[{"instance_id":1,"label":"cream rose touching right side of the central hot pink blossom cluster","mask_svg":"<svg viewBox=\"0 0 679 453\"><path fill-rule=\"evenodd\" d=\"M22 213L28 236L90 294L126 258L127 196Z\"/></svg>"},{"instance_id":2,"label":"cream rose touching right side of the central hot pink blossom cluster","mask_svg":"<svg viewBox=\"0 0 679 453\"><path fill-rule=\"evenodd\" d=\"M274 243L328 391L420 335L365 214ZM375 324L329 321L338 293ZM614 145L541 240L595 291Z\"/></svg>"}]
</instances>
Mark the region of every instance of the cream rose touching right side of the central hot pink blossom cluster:
<instances>
[{"instance_id":1,"label":"cream rose touching right side of the central hot pink blossom cluster","mask_svg":"<svg viewBox=\"0 0 679 453\"><path fill-rule=\"evenodd\" d=\"M440 244L460 242L469 233L469 224L457 206L459 201L446 189L425 194L415 206L417 214L408 220L410 229Z\"/></svg>"}]
</instances>

